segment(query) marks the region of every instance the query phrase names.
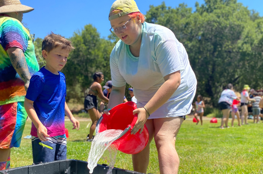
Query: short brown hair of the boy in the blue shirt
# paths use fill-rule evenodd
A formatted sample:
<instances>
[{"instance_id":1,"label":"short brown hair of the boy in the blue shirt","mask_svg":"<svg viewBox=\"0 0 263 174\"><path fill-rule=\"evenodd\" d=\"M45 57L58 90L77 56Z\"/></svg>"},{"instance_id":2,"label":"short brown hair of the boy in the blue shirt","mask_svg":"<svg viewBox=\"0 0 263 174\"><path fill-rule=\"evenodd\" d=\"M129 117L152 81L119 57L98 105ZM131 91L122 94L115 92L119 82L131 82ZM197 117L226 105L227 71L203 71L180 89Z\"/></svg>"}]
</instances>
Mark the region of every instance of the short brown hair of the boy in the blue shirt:
<instances>
[{"instance_id":1,"label":"short brown hair of the boy in the blue shirt","mask_svg":"<svg viewBox=\"0 0 263 174\"><path fill-rule=\"evenodd\" d=\"M69 50L69 52L74 49L74 47L71 45L71 41L65 39L59 34L54 34L51 32L51 34L45 36L42 42L42 51L46 50L47 52L50 52L58 46L61 46L62 49Z\"/></svg>"}]
</instances>

